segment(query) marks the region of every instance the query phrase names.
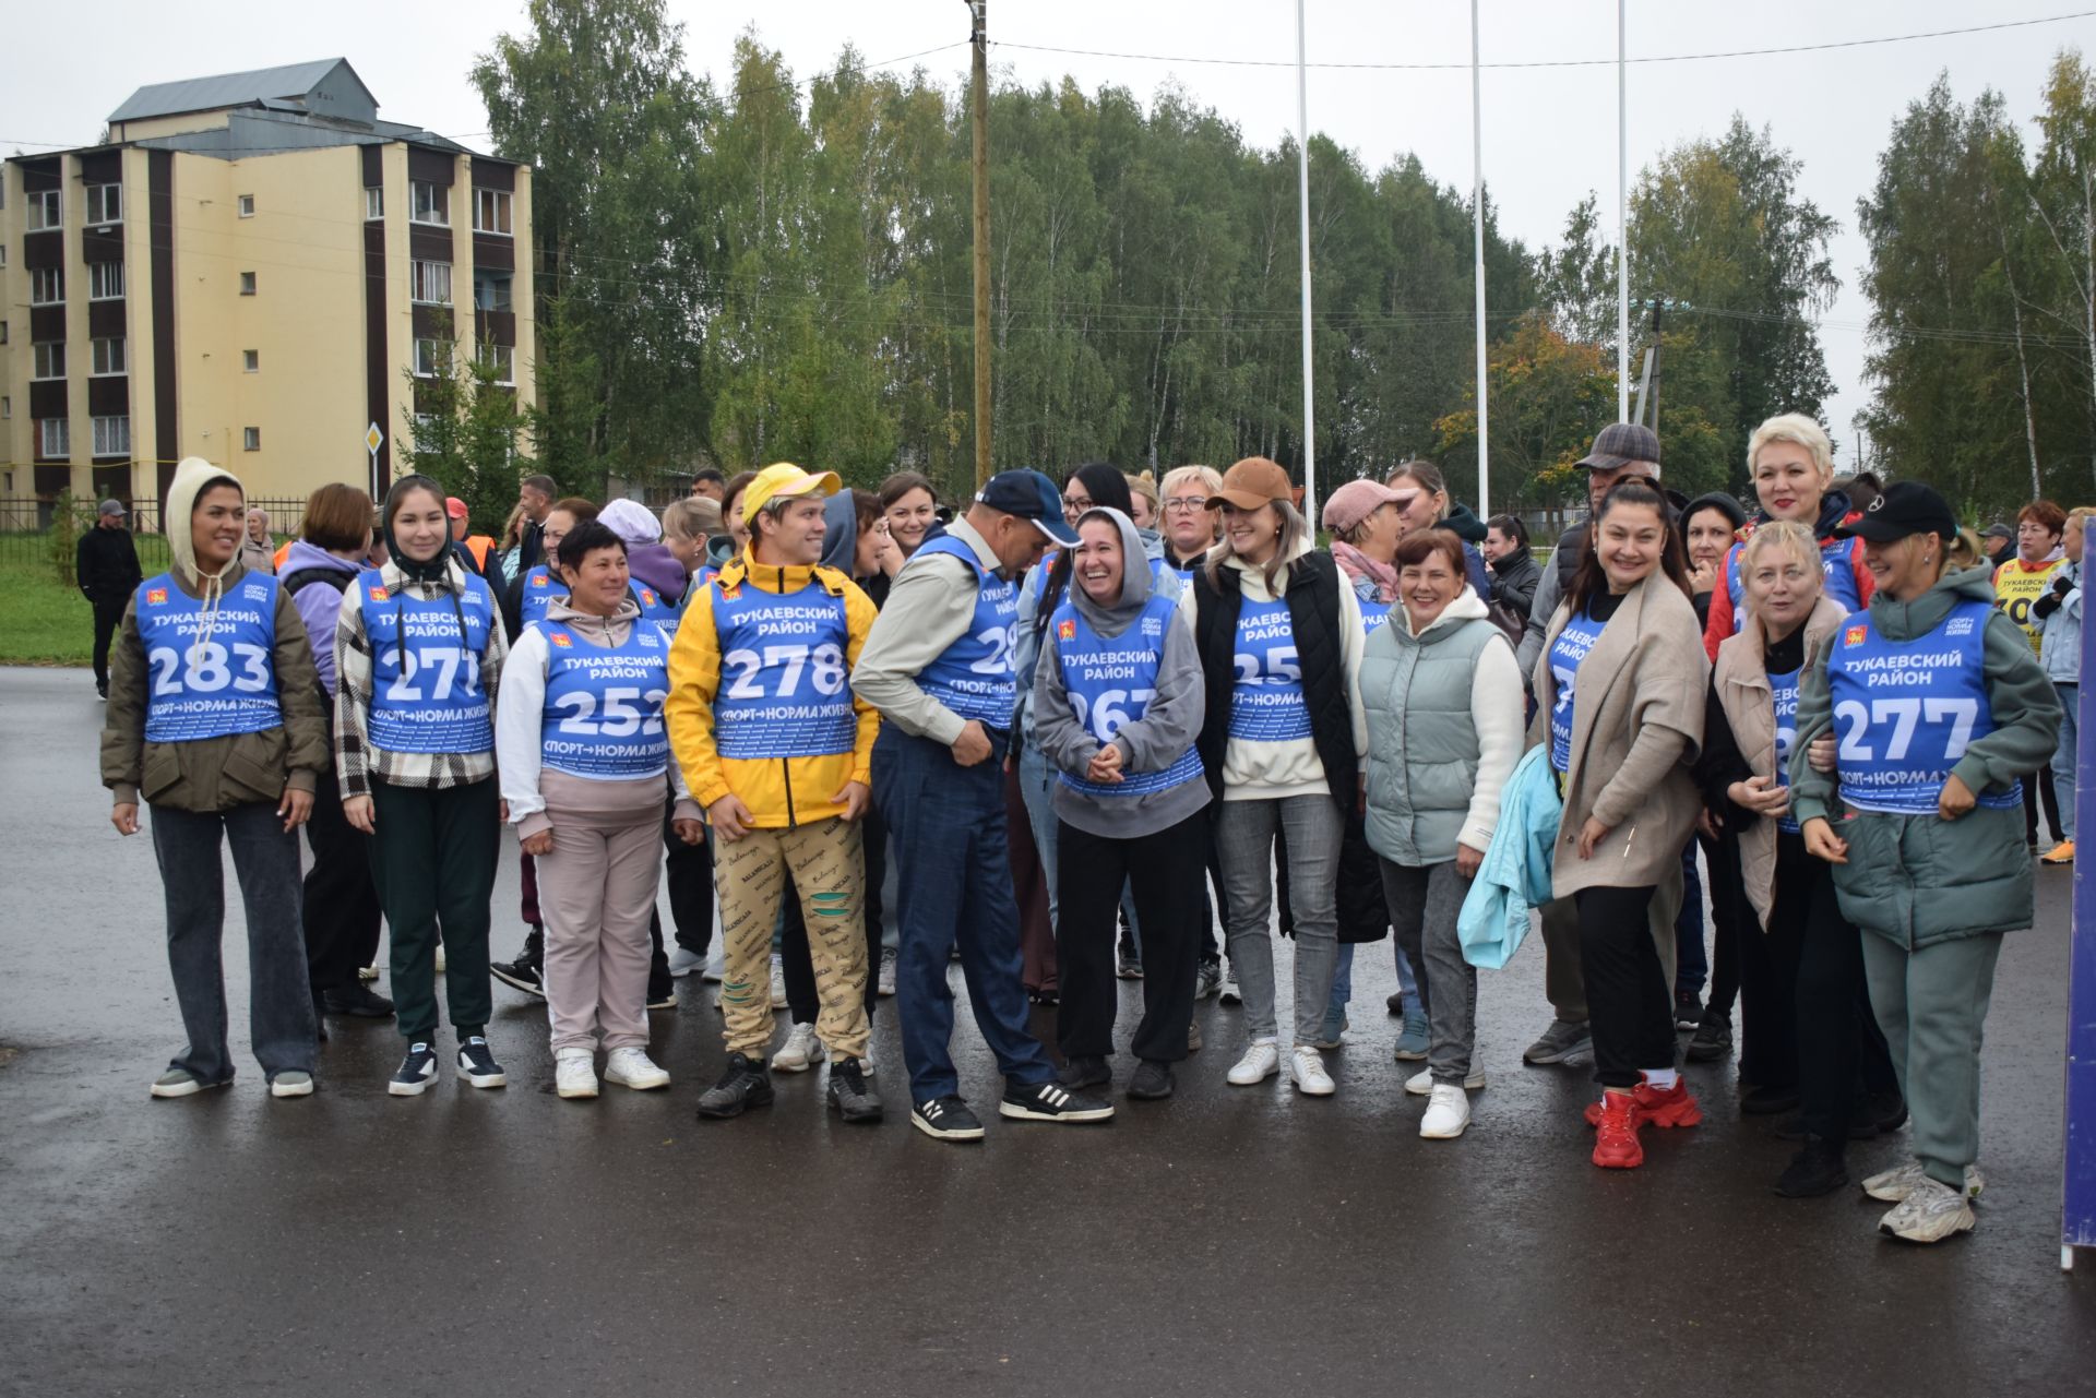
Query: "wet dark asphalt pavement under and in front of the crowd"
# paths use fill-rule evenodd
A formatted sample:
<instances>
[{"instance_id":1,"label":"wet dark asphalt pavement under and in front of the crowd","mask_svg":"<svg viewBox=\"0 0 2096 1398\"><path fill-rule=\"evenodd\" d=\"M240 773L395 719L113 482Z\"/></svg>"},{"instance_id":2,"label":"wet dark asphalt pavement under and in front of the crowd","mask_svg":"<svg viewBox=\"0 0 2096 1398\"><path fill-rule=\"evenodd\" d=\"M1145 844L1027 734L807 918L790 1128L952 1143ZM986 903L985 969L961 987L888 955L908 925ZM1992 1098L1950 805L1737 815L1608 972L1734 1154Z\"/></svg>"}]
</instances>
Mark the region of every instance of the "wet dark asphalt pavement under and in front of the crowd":
<instances>
[{"instance_id":1,"label":"wet dark asphalt pavement under and in front of the crowd","mask_svg":"<svg viewBox=\"0 0 2096 1398\"><path fill-rule=\"evenodd\" d=\"M1457 1142L1417 1138L1388 941L1360 949L1333 1098L1224 1086L1239 1012L1205 1002L1172 1100L956 1146L908 1126L893 1002L887 1123L826 1115L820 1071L694 1121L723 1063L696 979L652 1017L669 1092L555 1098L543 1012L497 985L507 1090L446 1063L388 1098L392 1025L335 1021L319 1094L277 1102L233 908L241 1075L149 1100L178 1017L99 723L84 671L0 671L0 1392L2096 1392L2096 1253L2058 1270L2067 872L2039 872L1995 981L1979 1232L1914 1249L1857 1191L1769 1191L1792 1146L1740 1119L1729 1061L1689 1069L1704 1126L1589 1165L1585 1069L1520 1065L1538 941L1482 977L1490 1086ZM505 956L507 840L495 903ZM956 1048L991 1107L964 1014ZM1903 1144L1853 1146L1851 1174Z\"/></svg>"}]
</instances>

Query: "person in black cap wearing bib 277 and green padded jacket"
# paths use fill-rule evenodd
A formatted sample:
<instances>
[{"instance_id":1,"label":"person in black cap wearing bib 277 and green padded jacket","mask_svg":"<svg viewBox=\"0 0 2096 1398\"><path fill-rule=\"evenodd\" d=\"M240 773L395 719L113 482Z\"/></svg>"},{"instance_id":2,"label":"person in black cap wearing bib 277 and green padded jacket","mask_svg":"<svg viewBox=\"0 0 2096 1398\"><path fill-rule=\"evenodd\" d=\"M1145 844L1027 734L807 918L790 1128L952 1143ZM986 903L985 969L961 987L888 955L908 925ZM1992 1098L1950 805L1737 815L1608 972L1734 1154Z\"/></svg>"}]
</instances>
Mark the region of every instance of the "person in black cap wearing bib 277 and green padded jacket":
<instances>
[{"instance_id":1,"label":"person in black cap wearing bib 277 and green padded jacket","mask_svg":"<svg viewBox=\"0 0 2096 1398\"><path fill-rule=\"evenodd\" d=\"M1979 1048L2004 933L2031 926L2023 773L2052 755L2060 708L1985 568L1949 568L1958 520L1901 480L1838 537L1876 583L1798 683L1792 809L1863 929L1870 1004L1914 1113L1914 1161L1863 1180L1895 1203L1878 1230L1937 1243L1972 1228ZM1928 656L1926 664L1916 664ZM1838 738L1838 780L1809 744Z\"/></svg>"}]
</instances>

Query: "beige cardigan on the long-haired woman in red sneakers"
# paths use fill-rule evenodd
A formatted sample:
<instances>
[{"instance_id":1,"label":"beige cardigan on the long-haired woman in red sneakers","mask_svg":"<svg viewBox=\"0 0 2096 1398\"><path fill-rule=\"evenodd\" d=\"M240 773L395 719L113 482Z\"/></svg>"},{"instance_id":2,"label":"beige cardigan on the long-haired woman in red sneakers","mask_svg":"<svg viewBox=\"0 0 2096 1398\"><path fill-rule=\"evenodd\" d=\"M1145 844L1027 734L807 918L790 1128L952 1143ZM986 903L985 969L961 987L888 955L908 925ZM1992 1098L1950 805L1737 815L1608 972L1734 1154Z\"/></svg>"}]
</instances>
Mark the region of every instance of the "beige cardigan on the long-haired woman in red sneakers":
<instances>
[{"instance_id":1,"label":"beige cardigan on the long-haired woman in red sneakers","mask_svg":"<svg viewBox=\"0 0 2096 1398\"><path fill-rule=\"evenodd\" d=\"M1530 746L1549 742L1557 681L1551 646L1570 620L1557 606L1536 660L1536 717ZM1551 893L1637 889L1660 882L1681 864L1702 799L1689 763L1702 744L1710 660L1704 658L1696 606L1664 572L1633 587L1578 667L1572 706L1572 769L1551 861ZM1578 857L1587 817L1608 826L1593 857Z\"/></svg>"}]
</instances>

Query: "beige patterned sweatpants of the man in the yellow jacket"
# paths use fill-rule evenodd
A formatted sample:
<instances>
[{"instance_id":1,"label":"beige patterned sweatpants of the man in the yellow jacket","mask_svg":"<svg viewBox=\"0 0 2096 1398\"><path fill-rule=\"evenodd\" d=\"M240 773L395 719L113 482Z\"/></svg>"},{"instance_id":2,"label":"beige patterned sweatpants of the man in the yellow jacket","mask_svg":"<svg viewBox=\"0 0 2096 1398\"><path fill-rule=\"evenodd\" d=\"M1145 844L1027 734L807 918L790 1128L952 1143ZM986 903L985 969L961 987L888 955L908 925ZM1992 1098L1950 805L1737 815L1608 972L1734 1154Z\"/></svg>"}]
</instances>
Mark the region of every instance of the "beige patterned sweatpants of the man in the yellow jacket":
<instances>
[{"instance_id":1,"label":"beige patterned sweatpants of the man in the yellow jacket","mask_svg":"<svg viewBox=\"0 0 2096 1398\"><path fill-rule=\"evenodd\" d=\"M792 872L815 964L815 1035L838 1058L866 1056L866 861L861 826L822 820L792 830L715 838L713 884L721 899L721 1012L727 1052L761 1058L771 1044L771 929L780 882Z\"/></svg>"}]
</instances>

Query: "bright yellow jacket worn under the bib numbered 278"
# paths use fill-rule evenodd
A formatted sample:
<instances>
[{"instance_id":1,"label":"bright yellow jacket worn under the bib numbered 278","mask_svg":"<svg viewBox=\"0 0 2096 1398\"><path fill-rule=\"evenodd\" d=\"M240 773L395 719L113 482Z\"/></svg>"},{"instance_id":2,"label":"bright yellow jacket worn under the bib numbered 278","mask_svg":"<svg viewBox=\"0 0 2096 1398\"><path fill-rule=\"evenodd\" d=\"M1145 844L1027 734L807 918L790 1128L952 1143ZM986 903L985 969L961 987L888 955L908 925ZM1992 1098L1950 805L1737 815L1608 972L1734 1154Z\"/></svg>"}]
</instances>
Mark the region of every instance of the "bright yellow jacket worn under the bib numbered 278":
<instances>
[{"instance_id":1,"label":"bright yellow jacket worn under the bib numbered 278","mask_svg":"<svg viewBox=\"0 0 2096 1398\"><path fill-rule=\"evenodd\" d=\"M859 648L866 646L866 633L874 625L872 599L834 568L778 568L755 562L748 549L729 560L719 576L685 606L683 620L677 625L677 641L669 652L669 702L662 713L669 719L669 742L677 752L683 780L690 784L692 796L708 809L721 796L740 796L755 817L752 824L765 830L786 830L843 815L845 807L836 796L845 784L872 784L874 736L880 731L880 715L866 700L853 698L851 702L857 715L851 752L734 759L721 757L715 748L713 700L721 687L721 639L713 622L713 604L721 593L740 587L778 595L817 587L832 597L843 597L845 625L851 633L845 648L847 675L859 662Z\"/></svg>"}]
</instances>

